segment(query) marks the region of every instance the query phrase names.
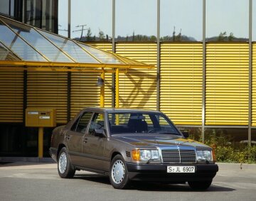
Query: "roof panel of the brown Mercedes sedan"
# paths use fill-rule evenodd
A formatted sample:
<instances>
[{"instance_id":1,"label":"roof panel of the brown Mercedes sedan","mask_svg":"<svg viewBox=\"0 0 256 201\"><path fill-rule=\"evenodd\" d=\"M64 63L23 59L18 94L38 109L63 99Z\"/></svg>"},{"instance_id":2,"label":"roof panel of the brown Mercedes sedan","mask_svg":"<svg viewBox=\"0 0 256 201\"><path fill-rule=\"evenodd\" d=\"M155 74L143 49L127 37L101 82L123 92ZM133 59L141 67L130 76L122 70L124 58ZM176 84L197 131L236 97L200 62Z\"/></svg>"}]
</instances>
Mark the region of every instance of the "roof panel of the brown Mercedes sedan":
<instances>
[{"instance_id":1,"label":"roof panel of the brown Mercedes sedan","mask_svg":"<svg viewBox=\"0 0 256 201\"><path fill-rule=\"evenodd\" d=\"M135 109L135 108L114 108L114 107L86 107L83 109L85 111L92 111L92 112L159 112L157 110L151 109Z\"/></svg>"}]
</instances>

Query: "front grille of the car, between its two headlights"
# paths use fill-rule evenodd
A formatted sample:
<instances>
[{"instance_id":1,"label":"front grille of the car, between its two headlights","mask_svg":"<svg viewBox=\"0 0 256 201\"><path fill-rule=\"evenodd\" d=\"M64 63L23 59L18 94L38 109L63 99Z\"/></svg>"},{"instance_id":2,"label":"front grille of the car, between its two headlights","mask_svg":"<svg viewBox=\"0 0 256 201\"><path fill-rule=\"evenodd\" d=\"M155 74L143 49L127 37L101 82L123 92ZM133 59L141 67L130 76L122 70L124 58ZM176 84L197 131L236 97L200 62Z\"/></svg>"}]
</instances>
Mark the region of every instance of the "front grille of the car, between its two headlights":
<instances>
[{"instance_id":1,"label":"front grille of the car, between its two headlights","mask_svg":"<svg viewBox=\"0 0 256 201\"><path fill-rule=\"evenodd\" d=\"M164 163L195 163L194 150L165 149L161 151Z\"/></svg>"}]
</instances>

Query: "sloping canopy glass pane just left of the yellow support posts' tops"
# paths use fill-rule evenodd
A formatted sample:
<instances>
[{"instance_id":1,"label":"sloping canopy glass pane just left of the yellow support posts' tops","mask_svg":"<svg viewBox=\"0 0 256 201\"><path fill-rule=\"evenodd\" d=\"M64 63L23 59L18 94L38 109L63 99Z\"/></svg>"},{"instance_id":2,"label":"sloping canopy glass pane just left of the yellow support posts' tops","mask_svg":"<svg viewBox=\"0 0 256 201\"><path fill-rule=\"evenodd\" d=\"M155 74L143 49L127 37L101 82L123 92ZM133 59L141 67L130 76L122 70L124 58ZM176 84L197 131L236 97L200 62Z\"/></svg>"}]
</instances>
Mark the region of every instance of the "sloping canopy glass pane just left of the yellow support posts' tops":
<instances>
[{"instance_id":1,"label":"sloping canopy glass pane just left of the yellow support posts' tops","mask_svg":"<svg viewBox=\"0 0 256 201\"><path fill-rule=\"evenodd\" d=\"M68 53L78 63L99 63L95 58L82 50L75 42L68 40L68 38L62 38L60 36L53 35L44 31L38 30L43 36L51 40L61 50Z\"/></svg>"}]
</instances>

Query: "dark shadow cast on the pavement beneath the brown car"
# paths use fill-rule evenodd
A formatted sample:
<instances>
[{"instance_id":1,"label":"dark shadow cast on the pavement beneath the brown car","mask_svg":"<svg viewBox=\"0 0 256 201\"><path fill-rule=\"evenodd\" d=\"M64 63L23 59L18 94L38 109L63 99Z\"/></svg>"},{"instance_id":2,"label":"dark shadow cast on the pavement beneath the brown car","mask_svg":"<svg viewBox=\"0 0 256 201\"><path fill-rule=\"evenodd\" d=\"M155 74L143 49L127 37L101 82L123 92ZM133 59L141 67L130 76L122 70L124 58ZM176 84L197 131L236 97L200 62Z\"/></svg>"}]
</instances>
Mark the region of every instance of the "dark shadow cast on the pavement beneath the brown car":
<instances>
[{"instance_id":1,"label":"dark shadow cast on the pavement beneath the brown car","mask_svg":"<svg viewBox=\"0 0 256 201\"><path fill-rule=\"evenodd\" d=\"M79 174L75 175L74 179L88 180L95 183L102 183L110 185L110 179L107 175L99 174ZM127 190L140 190L140 191L179 191L179 192L196 192L192 190L187 184L161 184L149 182L132 182ZM220 185L211 185L208 192L230 192L234 191L233 188L226 188ZM198 192L201 192L198 190Z\"/></svg>"}]
</instances>

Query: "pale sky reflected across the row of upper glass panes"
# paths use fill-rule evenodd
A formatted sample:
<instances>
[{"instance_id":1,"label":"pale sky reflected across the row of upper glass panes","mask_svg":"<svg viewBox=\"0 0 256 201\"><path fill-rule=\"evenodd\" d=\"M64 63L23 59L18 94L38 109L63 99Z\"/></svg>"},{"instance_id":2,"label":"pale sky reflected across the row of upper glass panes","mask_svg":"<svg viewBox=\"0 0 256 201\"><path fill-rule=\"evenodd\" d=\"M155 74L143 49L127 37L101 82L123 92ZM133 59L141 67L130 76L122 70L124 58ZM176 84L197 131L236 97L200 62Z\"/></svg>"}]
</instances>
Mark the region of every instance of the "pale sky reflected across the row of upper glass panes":
<instances>
[{"instance_id":1,"label":"pale sky reflected across the row of upper glass panes","mask_svg":"<svg viewBox=\"0 0 256 201\"><path fill-rule=\"evenodd\" d=\"M256 40L256 0L253 4L252 39ZM156 36L157 0L116 0L116 37L142 34ZM160 36L178 34L202 40L203 0L161 0ZM68 29L68 0L59 1L60 29ZM226 31L248 38L249 0L206 0L206 38ZM86 25L93 35L99 31L112 36L112 0L71 0L71 31ZM59 31L67 36L67 31ZM84 31L85 36L87 30ZM80 37L81 32L71 33Z\"/></svg>"}]
</instances>

